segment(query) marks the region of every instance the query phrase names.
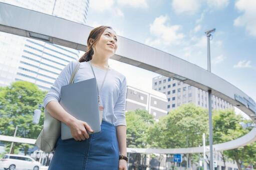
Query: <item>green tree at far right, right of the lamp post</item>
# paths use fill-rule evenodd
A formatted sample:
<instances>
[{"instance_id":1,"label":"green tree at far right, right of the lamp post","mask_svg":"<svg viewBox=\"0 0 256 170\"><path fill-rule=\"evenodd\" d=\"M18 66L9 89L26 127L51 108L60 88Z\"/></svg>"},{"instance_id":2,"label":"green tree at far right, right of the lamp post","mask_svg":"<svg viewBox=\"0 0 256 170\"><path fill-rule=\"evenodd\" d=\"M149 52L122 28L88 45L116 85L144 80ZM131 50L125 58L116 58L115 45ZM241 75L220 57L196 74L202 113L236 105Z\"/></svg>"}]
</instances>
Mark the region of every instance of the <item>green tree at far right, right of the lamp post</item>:
<instances>
[{"instance_id":1,"label":"green tree at far right, right of the lamp post","mask_svg":"<svg viewBox=\"0 0 256 170\"><path fill-rule=\"evenodd\" d=\"M234 140L245 135L251 127L243 127L243 124L250 124L250 120L245 120L240 114L235 114L234 109L222 109L213 111L213 141L221 143ZM220 152L225 165L225 156L235 160L239 169L241 165L253 164L252 156L256 154L255 144L249 144L239 148Z\"/></svg>"}]
</instances>

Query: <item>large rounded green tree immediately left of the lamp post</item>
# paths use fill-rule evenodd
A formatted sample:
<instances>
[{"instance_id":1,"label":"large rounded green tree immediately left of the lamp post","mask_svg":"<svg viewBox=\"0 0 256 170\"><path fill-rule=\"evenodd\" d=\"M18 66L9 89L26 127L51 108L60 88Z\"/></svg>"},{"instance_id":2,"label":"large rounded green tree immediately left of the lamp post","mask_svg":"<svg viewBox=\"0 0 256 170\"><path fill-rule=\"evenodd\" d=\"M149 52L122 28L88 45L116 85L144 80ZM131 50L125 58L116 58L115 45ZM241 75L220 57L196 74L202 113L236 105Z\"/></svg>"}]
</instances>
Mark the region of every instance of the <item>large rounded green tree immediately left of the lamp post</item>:
<instances>
[{"instance_id":1,"label":"large rounded green tree immediately left of the lamp post","mask_svg":"<svg viewBox=\"0 0 256 170\"><path fill-rule=\"evenodd\" d=\"M147 142L156 148L196 147L202 143L202 133L208 133L207 109L188 103L153 124L148 130ZM193 157L197 161L197 156L188 154L188 159Z\"/></svg>"}]
</instances>

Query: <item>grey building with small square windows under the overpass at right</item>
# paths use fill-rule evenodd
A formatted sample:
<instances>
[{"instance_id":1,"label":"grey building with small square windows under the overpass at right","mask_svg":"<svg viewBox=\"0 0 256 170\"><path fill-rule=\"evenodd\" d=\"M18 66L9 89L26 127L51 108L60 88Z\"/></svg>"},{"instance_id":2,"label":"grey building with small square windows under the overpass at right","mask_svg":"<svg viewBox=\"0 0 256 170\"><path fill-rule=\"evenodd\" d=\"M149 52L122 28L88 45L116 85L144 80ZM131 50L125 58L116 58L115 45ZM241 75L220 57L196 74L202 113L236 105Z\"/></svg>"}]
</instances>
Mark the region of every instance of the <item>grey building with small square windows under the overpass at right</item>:
<instances>
[{"instance_id":1,"label":"grey building with small square windows under the overpass at right","mask_svg":"<svg viewBox=\"0 0 256 170\"><path fill-rule=\"evenodd\" d=\"M152 88L166 94L168 110L188 102L208 108L208 92L179 80L160 75L152 79ZM212 109L233 108L232 104L214 95L212 95L211 107Z\"/></svg>"}]
</instances>

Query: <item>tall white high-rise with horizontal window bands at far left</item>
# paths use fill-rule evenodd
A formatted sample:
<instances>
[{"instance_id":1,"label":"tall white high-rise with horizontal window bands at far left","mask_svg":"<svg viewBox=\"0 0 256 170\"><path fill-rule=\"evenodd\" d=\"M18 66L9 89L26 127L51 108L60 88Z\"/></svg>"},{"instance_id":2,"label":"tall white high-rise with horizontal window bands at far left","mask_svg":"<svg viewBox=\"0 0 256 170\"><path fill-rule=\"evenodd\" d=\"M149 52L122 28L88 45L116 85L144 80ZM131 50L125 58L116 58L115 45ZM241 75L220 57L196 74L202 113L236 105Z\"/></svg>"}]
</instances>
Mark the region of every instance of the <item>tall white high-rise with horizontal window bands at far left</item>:
<instances>
[{"instance_id":1,"label":"tall white high-rise with horizontal window bands at far left","mask_svg":"<svg viewBox=\"0 0 256 170\"><path fill-rule=\"evenodd\" d=\"M86 23L89 0L0 0L19 7ZM85 39L86 41L86 39ZM0 85L26 80L49 90L61 70L79 50L0 32Z\"/></svg>"}]
</instances>

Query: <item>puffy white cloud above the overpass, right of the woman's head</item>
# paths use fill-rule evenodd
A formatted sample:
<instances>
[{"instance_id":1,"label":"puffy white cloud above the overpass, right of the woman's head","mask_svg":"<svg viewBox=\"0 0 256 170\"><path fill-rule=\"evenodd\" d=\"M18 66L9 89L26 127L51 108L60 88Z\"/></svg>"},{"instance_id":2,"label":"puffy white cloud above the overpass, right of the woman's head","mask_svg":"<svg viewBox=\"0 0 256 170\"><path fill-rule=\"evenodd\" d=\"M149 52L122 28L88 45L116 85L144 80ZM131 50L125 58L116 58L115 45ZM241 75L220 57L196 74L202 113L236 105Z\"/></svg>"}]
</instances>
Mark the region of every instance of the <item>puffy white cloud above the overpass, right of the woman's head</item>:
<instances>
[{"instance_id":1,"label":"puffy white cloud above the overpass, right of the woman's head","mask_svg":"<svg viewBox=\"0 0 256 170\"><path fill-rule=\"evenodd\" d=\"M151 46L178 44L184 37L183 33L179 33L180 25L170 25L168 16L156 17L150 24L150 33L156 38L147 38L145 43Z\"/></svg>"}]
</instances>

